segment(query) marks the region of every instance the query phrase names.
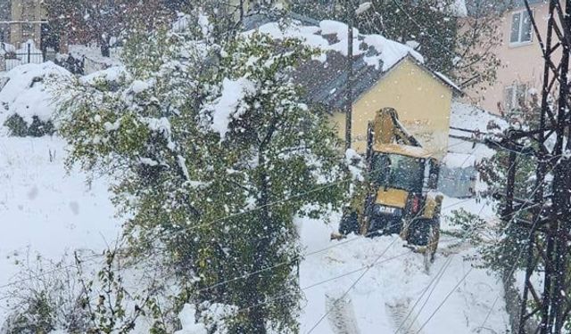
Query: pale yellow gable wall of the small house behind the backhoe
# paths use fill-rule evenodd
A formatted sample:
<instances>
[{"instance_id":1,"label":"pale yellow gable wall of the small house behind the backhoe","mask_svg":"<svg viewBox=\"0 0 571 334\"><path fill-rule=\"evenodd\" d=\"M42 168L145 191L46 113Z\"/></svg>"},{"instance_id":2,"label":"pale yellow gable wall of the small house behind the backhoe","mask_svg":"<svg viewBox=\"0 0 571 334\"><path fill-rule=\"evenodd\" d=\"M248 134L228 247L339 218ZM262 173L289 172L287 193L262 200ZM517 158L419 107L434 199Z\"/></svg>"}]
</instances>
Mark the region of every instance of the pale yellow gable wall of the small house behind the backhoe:
<instances>
[{"instance_id":1,"label":"pale yellow gable wall of the small house behind the backhoe","mask_svg":"<svg viewBox=\"0 0 571 334\"><path fill-rule=\"evenodd\" d=\"M410 134L427 151L442 159L448 150L451 101L451 87L414 61L405 59L353 104L352 148L364 153L368 122L375 118L377 110L393 107ZM344 139L345 114L335 112L332 120Z\"/></svg>"}]
</instances>

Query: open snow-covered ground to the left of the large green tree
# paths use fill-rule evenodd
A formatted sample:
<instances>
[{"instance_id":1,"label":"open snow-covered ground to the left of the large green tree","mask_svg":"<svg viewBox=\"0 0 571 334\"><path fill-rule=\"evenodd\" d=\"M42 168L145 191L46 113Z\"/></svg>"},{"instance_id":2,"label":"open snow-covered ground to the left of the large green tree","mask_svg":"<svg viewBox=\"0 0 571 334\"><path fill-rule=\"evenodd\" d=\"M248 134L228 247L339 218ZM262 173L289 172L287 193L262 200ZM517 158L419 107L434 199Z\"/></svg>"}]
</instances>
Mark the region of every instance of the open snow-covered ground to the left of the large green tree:
<instances>
[{"instance_id":1,"label":"open snow-covered ground to the left of the large green tree","mask_svg":"<svg viewBox=\"0 0 571 334\"><path fill-rule=\"evenodd\" d=\"M0 135L0 295L15 280L22 261L41 255L59 261L76 249L100 253L117 239L107 182L86 183L85 174L68 175L59 138ZM0 323L4 320L4 301ZM1 326L1 325L0 325Z\"/></svg>"}]
</instances>

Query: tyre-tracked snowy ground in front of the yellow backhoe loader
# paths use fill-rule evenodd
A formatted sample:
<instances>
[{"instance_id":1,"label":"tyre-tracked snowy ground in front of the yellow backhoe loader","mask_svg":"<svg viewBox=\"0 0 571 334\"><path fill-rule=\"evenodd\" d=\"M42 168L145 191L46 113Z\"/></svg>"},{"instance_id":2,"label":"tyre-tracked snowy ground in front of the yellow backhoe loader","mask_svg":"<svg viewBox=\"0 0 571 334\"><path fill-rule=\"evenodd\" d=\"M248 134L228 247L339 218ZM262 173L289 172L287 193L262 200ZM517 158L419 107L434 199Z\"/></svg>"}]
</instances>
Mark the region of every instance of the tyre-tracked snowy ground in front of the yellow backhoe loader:
<instances>
[{"instance_id":1,"label":"tyre-tracked snowy ground in front of the yellow backhoe loader","mask_svg":"<svg viewBox=\"0 0 571 334\"><path fill-rule=\"evenodd\" d=\"M474 213L483 206L475 200L445 199L443 213L459 204ZM300 267L305 300L301 332L308 332L327 312L313 334L395 333L399 328L399 333L472 333L491 311L485 327L498 333L508 329L503 299L491 310L502 294L501 281L463 260L476 250L448 248L455 242L451 237L441 238L426 273L423 256L404 248L399 236L350 235L330 241L334 226L309 219L298 224L308 254Z\"/></svg>"}]
</instances>

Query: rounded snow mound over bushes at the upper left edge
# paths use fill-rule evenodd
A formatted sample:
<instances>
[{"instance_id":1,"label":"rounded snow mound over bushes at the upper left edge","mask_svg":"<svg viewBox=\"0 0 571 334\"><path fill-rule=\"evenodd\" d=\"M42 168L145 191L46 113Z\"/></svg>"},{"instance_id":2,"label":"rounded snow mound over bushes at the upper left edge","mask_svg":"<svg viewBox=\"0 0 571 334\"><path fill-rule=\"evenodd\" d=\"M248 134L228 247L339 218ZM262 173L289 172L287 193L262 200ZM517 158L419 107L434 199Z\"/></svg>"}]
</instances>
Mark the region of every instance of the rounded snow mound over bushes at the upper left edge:
<instances>
[{"instance_id":1,"label":"rounded snow mound over bushes at the upper left edge","mask_svg":"<svg viewBox=\"0 0 571 334\"><path fill-rule=\"evenodd\" d=\"M48 88L49 82L62 82L71 75L53 62L25 64L0 76L0 126L12 114L18 114L28 123L32 117L50 119L55 111L54 93Z\"/></svg>"}]
</instances>

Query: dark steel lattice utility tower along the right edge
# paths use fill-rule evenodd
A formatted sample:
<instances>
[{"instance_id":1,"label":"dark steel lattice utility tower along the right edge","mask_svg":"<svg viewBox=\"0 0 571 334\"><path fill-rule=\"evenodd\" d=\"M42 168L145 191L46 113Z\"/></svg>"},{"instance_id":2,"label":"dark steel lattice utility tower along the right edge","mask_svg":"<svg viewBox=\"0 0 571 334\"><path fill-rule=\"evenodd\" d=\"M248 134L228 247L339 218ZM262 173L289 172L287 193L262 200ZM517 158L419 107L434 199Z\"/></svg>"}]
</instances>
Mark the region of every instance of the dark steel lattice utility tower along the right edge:
<instances>
[{"instance_id":1,"label":"dark steel lattice utility tower along the right edge","mask_svg":"<svg viewBox=\"0 0 571 334\"><path fill-rule=\"evenodd\" d=\"M521 311L518 323L512 327L519 334L559 334L571 312L571 296L567 296L571 289L567 277L567 264L571 260L571 143L568 140L571 134L568 84L571 0L550 0L545 36L537 28L528 0L524 2L542 49L544 70L539 126L511 130L505 145L510 151L506 185L509 222L524 228L529 236L523 246L526 248L521 249L526 263ZM552 100L556 101L556 108ZM547 144L552 137L555 137L555 145ZM517 165L512 153L529 153L530 149L537 161L533 199L517 200L513 198ZM552 175L551 181L548 175ZM550 191L547 191L549 182ZM533 214L532 220L522 218L522 212Z\"/></svg>"}]
</instances>

